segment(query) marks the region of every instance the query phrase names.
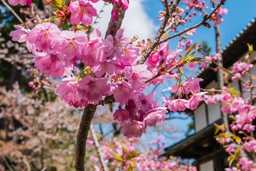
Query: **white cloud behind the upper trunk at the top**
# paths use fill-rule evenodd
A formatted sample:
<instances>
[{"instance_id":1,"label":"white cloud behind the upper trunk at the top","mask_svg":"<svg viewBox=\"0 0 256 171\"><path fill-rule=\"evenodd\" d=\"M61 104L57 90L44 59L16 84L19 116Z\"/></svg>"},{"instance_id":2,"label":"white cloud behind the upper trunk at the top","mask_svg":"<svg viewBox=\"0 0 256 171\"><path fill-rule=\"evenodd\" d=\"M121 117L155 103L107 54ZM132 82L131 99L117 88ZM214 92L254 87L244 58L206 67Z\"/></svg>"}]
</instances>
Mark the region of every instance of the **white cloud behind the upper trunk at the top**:
<instances>
[{"instance_id":1,"label":"white cloud behind the upper trunk at the top","mask_svg":"<svg viewBox=\"0 0 256 171\"><path fill-rule=\"evenodd\" d=\"M150 18L143 8L143 1L145 0L130 0L128 10L125 12L123 25L121 27L126 28L125 35L139 36L139 40L151 38L155 35L157 26L154 25L153 19ZM97 11L100 11L104 6L103 1L99 1L93 4ZM104 36L107 31L108 22L111 18L112 5L106 5L104 12L100 14L100 19L97 19L96 27L101 28L101 34ZM94 26L94 27L95 27Z\"/></svg>"}]
</instances>

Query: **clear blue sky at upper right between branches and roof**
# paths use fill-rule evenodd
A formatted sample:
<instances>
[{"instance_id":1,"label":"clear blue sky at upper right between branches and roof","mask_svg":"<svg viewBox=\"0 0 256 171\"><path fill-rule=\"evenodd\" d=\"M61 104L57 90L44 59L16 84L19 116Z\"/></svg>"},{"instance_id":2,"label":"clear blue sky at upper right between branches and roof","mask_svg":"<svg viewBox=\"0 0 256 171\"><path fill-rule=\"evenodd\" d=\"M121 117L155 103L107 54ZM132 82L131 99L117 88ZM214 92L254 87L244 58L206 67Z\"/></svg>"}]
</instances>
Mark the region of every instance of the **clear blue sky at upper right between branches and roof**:
<instances>
[{"instance_id":1,"label":"clear blue sky at upper right between branches and roof","mask_svg":"<svg viewBox=\"0 0 256 171\"><path fill-rule=\"evenodd\" d=\"M208 2L208 1L206 1ZM146 13L151 17L155 18L154 23L156 26L160 25L160 22L157 21L156 15L158 15L159 10L163 9L162 3L159 0L147 0L143 1L145 6ZM227 0L223 6L229 12L224 15L224 22L221 23L221 41L222 48L230 42L246 25L256 16L256 1L255 0ZM201 16L195 18L192 22L186 23L186 27L195 25L200 22L202 19ZM210 23L213 26L213 23ZM197 28L196 34L191 36L193 42L197 42L198 39L206 40L209 45L215 50L215 40L214 40L214 28L206 28L201 26ZM170 46L173 48L176 47L176 43L173 45L170 43ZM212 50L212 52L213 52Z\"/></svg>"}]
</instances>

